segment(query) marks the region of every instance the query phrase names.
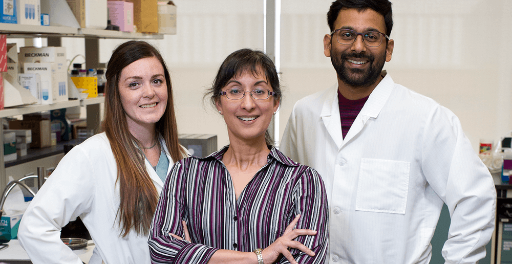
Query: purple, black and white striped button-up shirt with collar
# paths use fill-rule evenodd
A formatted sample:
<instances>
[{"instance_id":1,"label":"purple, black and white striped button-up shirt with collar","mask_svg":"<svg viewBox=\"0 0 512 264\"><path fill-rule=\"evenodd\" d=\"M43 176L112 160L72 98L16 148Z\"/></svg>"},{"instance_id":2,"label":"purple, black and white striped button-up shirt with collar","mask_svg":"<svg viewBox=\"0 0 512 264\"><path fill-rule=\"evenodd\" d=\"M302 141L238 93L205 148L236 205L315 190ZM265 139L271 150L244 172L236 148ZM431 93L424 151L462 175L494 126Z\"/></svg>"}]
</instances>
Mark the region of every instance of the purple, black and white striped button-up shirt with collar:
<instances>
[{"instance_id":1,"label":"purple, black and white striped button-up shirt with collar","mask_svg":"<svg viewBox=\"0 0 512 264\"><path fill-rule=\"evenodd\" d=\"M328 208L324 183L312 168L295 163L272 147L267 165L238 200L222 157L229 146L205 158L177 162L170 171L150 230L152 263L206 263L219 249L250 252L283 235L297 214L296 228L316 230L295 240L315 252L291 249L298 263L324 263ZM182 220L192 243L184 237ZM279 263L288 263L283 257Z\"/></svg>"}]
</instances>

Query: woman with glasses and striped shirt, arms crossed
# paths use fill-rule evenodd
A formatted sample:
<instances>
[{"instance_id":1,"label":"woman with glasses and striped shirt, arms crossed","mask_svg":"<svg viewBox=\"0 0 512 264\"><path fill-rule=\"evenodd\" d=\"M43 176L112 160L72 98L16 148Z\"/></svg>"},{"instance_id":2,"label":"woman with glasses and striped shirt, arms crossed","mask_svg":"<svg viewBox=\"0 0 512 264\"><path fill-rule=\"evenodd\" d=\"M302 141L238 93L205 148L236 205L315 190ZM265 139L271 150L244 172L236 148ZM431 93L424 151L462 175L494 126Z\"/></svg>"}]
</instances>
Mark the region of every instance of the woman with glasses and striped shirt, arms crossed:
<instances>
[{"instance_id":1,"label":"woman with glasses and striped shirt, arms crossed","mask_svg":"<svg viewBox=\"0 0 512 264\"><path fill-rule=\"evenodd\" d=\"M281 101L272 60L233 52L207 96L224 117L229 145L174 165L150 230L152 262L324 263L324 183L272 146L267 131Z\"/></svg>"}]
</instances>

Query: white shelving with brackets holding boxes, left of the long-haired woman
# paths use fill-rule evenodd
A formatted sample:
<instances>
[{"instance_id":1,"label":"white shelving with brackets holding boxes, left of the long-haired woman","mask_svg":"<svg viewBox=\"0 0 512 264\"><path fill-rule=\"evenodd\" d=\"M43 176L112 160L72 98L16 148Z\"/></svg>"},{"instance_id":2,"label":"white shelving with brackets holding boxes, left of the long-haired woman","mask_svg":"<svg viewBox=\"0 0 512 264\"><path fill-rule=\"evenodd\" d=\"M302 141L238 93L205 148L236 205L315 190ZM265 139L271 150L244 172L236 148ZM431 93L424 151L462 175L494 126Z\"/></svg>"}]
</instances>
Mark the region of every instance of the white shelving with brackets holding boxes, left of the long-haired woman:
<instances>
[{"instance_id":1,"label":"white shelving with brackets holding boxes, left of the long-haired woman","mask_svg":"<svg viewBox=\"0 0 512 264\"><path fill-rule=\"evenodd\" d=\"M98 67L98 49L100 38L123 38L123 39L163 39L161 34L146 34L137 32L119 32L111 30L80 29L70 27L54 26L28 26L17 24L0 23L0 34L6 34L13 38L48 38L48 46L61 46L61 37L79 37L84 39L86 47L86 68ZM0 110L0 121L3 118L30 114L53 109L67 108L73 106L87 106L87 126L89 129L98 128L100 124L99 105L103 103L103 97L70 100L50 105L29 105ZM4 139L3 128L0 125L0 191L7 185L7 175L4 163ZM19 165L18 165L19 166ZM36 168L34 168L35 170ZM13 175L15 179L22 178L24 175Z\"/></svg>"}]
</instances>

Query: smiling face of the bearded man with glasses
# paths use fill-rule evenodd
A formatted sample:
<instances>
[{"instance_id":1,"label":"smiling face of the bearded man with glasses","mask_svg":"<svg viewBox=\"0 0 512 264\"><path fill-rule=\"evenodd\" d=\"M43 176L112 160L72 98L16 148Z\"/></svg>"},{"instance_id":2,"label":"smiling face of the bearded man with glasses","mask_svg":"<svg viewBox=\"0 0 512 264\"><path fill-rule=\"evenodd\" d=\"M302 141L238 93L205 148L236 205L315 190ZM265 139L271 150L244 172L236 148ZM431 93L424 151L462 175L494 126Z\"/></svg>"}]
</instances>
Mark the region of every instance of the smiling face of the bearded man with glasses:
<instances>
[{"instance_id":1,"label":"smiling face of the bearded man with glasses","mask_svg":"<svg viewBox=\"0 0 512 264\"><path fill-rule=\"evenodd\" d=\"M334 22L335 29L350 29L356 32L378 31L386 32L384 17L373 9L358 11L357 9L342 9ZM386 40L378 47L368 47L357 36L351 45L338 43L336 36L324 37L324 54L331 57L338 79L352 87L362 87L373 90L380 81L380 72L386 61L391 60L394 42Z\"/></svg>"}]
</instances>

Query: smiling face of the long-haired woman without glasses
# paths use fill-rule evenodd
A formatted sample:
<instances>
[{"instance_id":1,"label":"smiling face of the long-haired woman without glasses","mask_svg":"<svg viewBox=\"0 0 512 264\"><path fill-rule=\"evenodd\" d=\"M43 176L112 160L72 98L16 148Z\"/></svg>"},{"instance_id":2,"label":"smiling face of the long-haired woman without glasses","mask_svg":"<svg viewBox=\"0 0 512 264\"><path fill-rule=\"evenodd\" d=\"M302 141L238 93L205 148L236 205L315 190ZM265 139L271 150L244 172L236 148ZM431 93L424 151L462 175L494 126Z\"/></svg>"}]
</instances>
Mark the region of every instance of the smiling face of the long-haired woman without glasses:
<instances>
[{"instance_id":1,"label":"smiling face of the long-haired woman without glasses","mask_svg":"<svg viewBox=\"0 0 512 264\"><path fill-rule=\"evenodd\" d=\"M147 57L127 65L119 77L119 95L130 131L154 127L167 105L167 84L160 61Z\"/></svg>"}]
</instances>

